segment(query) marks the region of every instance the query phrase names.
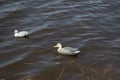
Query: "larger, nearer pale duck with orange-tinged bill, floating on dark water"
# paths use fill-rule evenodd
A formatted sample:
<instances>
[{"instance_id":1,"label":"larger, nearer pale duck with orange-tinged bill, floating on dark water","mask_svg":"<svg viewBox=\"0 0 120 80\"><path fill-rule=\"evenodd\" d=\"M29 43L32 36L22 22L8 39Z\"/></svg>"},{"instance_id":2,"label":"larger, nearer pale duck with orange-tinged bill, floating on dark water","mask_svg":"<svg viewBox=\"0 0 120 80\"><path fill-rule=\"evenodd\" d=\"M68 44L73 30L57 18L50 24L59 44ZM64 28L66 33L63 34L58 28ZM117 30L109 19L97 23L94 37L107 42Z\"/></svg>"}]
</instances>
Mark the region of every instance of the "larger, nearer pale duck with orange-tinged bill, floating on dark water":
<instances>
[{"instance_id":1,"label":"larger, nearer pale duck with orange-tinged bill, floating on dark water","mask_svg":"<svg viewBox=\"0 0 120 80\"><path fill-rule=\"evenodd\" d=\"M63 55L76 55L78 54L80 51L77 48L72 48L72 47L63 47L60 43L57 43L57 45L55 45L54 47L57 47L57 51L60 54Z\"/></svg>"}]
</instances>

